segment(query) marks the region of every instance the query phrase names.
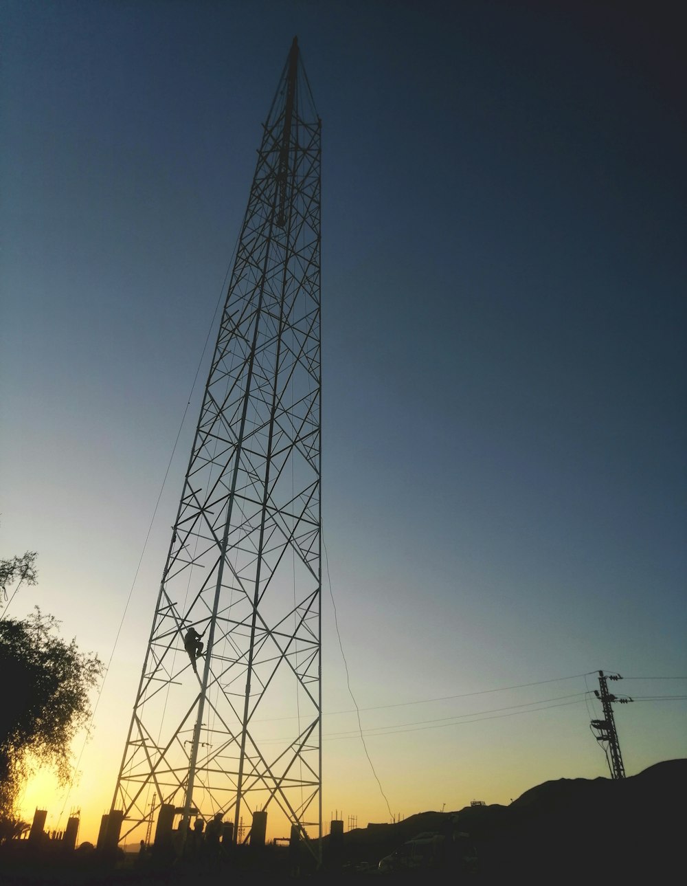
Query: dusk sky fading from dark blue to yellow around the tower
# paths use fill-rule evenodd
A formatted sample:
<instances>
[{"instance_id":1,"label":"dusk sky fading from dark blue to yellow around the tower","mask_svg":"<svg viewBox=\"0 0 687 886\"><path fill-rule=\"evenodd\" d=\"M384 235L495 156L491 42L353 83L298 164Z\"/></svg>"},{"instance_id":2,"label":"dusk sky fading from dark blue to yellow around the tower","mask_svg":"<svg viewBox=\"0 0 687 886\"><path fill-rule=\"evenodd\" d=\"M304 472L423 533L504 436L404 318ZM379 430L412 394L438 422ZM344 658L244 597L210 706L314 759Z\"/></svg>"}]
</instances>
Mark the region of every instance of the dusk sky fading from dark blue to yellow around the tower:
<instances>
[{"instance_id":1,"label":"dusk sky fading from dark blue to yellow around the tower","mask_svg":"<svg viewBox=\"0 0 687 886\"><path fill-rule=\"evenodd\" d=\"M631 6L2 4L0 556L40 570L9 614L112 655L81 780L27 814L94 839L111 802L199 384L137 565L294 35L328 574L392 812L607 775L599 668L684 695L644 678L687 676L687 72L679 4ZM325 818L389 820L323 602ZM686 711L616 708L628 774L687 756Z\"/></svg>"}]
</instances>

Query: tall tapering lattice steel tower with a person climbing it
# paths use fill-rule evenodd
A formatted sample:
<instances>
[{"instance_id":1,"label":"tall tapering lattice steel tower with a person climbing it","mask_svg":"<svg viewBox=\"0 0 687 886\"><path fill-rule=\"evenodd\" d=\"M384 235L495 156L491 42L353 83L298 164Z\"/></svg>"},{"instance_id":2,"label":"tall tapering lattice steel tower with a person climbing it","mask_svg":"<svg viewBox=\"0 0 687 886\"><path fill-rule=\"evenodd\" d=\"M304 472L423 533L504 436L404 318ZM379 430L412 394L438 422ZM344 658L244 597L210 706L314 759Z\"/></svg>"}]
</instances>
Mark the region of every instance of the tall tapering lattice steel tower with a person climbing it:
<instances>
[{"instance_id":1,"label":"tall tapering lattice steel tower with a person climbing it","mask_svg":"<svg viewBox=\"0 0 687 886\"><path fill-rule=\"evenodd\" d=\"M320 538L320 119L294 40L159 587L118 835L143 838L163 804L184 834L223 812L236 835L269 807L320 835Z\"/></svg>"}]
</instances>

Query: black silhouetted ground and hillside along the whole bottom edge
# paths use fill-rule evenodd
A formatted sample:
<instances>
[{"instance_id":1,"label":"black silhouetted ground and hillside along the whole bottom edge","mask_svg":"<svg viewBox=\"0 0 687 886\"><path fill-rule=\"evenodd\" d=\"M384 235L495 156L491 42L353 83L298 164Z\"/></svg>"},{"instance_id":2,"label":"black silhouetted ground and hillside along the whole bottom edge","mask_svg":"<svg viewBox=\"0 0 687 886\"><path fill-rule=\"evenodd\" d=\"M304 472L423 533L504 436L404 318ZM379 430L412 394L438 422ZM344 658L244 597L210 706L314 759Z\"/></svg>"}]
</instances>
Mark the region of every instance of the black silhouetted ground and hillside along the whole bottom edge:
<instances>
[{"instance_id":1,"label":"black silhouetted ground and hillside along the whole bottom edge","mask_svg":"<svg viewBox=\"0 0 687 886\"><path fill-rule=\"evenodd\" d=\"M25 841L14 842L0 847L0 883L148 886L192 877L202 877L207 886L370 877L418 883L560 884L602 877L662 883L683 868L686 791L687 759L667 760L621 781L545 781L507 806L419 812L395 824L371 823L338 840L325 837L319 871L306 855L295 859L286 847L239 847L212 859L160 859L152 853L103 858L84 846L68 856L49 849L29 854ZM407 861L407 847L416 843L432 843L436 851L415 856L411 867L393 864ZM382 859L390 859L386 870L380 870Z\"/></svg>"}]
</instances>

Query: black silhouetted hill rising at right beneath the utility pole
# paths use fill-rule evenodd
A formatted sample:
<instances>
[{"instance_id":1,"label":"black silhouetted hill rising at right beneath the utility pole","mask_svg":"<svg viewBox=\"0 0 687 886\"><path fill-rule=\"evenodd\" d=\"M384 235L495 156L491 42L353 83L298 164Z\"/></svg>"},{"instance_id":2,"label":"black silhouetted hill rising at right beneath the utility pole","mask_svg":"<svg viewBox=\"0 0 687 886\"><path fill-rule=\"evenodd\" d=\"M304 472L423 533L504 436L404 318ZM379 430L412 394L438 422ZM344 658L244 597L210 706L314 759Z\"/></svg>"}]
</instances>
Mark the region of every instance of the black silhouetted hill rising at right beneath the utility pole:
<instances>
[{"instance_id":1,"label":"black silhouetted hill rising at right beneath the utility pole","mask_svg":"<svg viewBox=\"0 0 687 886\"><path fill-rule=\"evenodd\" d=\"M508 806L421 812L398 824L350 831L340 850L330 845L327 855L337 863L376 864L423 831L444 834L448 846L457 832L467 832L480 859L474 882L668 882L682 867L686 792L687 759L658 763L622 781L545 781ZM437 869L436 882L452 874L445 867L450 857Z\"/></svg>"}]
</instances>

